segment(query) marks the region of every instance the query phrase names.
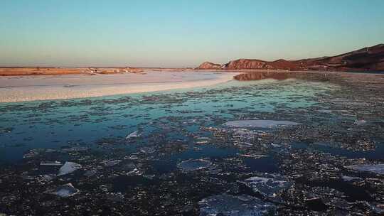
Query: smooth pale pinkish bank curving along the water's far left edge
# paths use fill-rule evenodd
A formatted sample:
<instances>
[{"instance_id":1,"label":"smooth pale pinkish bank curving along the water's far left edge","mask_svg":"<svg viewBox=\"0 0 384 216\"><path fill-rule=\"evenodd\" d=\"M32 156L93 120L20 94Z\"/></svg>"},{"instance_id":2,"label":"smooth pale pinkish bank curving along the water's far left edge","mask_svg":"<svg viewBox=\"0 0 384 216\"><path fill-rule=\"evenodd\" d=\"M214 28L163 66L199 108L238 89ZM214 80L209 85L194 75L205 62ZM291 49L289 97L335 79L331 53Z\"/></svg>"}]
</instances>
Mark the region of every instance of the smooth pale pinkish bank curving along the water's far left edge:
<instances>
[{"instance_id":1,"label":"smooth pale pinkish bank curving along the water's far left edge","mask_svg":"<svg viewBox=\"0 0 384 216\"><path fill-rule=\"evenodd\" d=\"M0 77L0 102L100 97L204 87L233 80L235 72L154 72L115 75Z\"/></svg>"}]
</instances>

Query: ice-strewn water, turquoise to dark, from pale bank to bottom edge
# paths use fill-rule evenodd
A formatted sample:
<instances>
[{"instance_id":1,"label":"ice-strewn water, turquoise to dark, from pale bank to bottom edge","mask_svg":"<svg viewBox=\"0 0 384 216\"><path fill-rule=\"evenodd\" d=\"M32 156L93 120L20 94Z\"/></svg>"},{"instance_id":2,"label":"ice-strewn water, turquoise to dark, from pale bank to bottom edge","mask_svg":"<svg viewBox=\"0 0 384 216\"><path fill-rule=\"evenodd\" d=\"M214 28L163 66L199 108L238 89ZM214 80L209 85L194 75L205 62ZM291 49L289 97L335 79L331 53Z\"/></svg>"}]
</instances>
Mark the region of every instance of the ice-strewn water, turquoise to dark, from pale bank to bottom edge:
<instances>
[{"instance_id":1,"label":"ice-strewn water, turquoise to dark, from pale bank to bottom edge","mask_svg":"<svg viewBox=\"0 0 384 216\"><path fill-rule=\"evenodd\" d=\"M14 196L0 200L0 210L73 215L78 203L77 212L92 214L199 215L204 199L220 204L218 198L228 196L271 207L280 202L271 208L276 214L380 210L383 176L346 168L384 159L384 99L375 86L368 91L324 74L259 72L236 79L247 82L0 104L0 191ZM81 168L57 176L60 166L41 161ZM246 179L289 184L265 195ZM44 193L67 183L80 193L68 200ZM44 207L36 210L31 200Z\"/></svg>"}]
</instances>

